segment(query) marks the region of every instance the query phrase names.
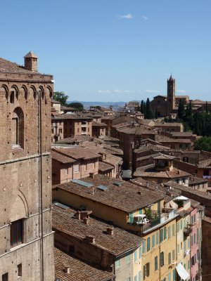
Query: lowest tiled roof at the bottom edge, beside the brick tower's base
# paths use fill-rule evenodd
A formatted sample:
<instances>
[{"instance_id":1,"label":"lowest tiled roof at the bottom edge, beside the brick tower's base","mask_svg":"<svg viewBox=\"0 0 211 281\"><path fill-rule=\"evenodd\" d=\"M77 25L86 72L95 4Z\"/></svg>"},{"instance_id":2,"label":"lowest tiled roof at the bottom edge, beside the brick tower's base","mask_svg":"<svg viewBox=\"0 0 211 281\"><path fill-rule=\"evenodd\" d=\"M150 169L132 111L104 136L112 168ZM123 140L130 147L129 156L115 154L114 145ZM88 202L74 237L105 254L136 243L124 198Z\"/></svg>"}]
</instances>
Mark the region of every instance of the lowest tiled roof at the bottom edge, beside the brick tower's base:
<instances>
[{"instance_id":1,"label":"lowest tiled roof at the bottom edge, beside the brick tower's base","mask_svg":"<svg viewBox=\"0 0 211 281\"><path fill-rule=\"evenodd\" d=\"M114 277L113 273L94 268L74 256L54 248L55 277L60 281L109 281ZM65 267L70 267L70 273L65 273Z\"/></svg>"}]
</instances>

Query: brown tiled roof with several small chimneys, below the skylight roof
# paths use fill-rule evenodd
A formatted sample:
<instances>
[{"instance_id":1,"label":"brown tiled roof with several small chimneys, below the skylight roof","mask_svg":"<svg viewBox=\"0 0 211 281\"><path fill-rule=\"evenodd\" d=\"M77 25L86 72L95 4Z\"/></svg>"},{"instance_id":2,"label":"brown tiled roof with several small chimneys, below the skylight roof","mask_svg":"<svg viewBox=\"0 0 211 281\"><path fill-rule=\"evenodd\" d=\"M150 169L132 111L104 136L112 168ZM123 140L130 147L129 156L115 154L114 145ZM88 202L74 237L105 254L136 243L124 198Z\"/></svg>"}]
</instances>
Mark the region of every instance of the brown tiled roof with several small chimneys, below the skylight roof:
<instances>
[{"instance_id":1,"label":"brown tiled roof with several small chimneys, below the skylight roof","mask_svg":"<svg viewBox=\"0 0 211 281\"><path fill-rule=\"evenodd\" d=\"M80 240L85 240L87 235L93 236L96 247L106 249L115 256L136 249L141 245L141 237L117 226L113 226L113 235L109 235L106 233L108 223L93 216L89 217L88 224L83 223L74 216L76 211L72 208L64 210L53 205L53 230L77 237Z\"/></svg>"}]
</instances>

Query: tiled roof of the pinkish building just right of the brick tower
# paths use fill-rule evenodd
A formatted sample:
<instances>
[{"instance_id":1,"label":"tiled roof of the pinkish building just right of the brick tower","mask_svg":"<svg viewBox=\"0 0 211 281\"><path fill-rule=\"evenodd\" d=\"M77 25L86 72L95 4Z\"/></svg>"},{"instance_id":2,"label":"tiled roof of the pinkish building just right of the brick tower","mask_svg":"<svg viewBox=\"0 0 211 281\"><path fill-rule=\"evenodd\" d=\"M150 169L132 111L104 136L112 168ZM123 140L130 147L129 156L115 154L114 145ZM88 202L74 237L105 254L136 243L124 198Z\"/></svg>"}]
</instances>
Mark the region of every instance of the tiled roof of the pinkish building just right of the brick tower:
<instances>
[{"instance_id":1,"label":"tiled roof of the pinkish building just right of the brick tower","mask_svg":"<svg viewBox=\"0 0 211 281\"><path fill-rule=\"evenodd\" d=\"M82 146L74 146L72 148L56 147L52 148L52 151L56 151L73 159L94 159L101 156L93 150L90 150L89 148L83 148Z\"/></svg>"}]
</instances>

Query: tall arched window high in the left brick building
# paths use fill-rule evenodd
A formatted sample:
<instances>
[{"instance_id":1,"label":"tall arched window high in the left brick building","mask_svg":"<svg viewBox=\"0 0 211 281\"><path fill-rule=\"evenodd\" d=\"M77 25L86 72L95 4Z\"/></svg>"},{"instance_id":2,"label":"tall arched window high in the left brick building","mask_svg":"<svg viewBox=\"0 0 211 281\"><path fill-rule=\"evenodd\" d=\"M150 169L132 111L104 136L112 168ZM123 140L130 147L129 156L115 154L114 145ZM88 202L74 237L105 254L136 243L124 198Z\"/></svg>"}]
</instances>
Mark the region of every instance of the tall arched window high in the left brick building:
<instances>
[{"instance_id":1,"label":"tall arched window high in the left brick building","mask_svg":"<svg viewBox=\"0 0 211 281\"><path fill-rule=\"evenodd\" d=\"M24 118L23 110L16 107L12 116L12 145L19 145L23 148L24 144Z\"/></svg>"}]
</instances>

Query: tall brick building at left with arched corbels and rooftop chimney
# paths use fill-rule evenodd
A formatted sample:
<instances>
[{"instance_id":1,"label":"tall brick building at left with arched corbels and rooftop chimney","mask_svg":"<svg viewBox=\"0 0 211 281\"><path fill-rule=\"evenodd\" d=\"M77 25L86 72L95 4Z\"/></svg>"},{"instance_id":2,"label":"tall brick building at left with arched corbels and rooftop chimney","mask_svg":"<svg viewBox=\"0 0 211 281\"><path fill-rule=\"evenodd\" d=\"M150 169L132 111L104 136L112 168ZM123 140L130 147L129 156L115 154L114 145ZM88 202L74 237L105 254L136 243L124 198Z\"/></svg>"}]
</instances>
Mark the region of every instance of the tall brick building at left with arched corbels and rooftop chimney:
<instances>
[{"instance_id":1,"label":"tall brick building at left with arched corbels and rooftop chimney","mask_svg":"<svg viewBox=\"0 0 211 281\"><path fill-rule=\"evenodd\" d=\"M0 279L53 281L53 76L29 54L30 70L0 58Z\"/></svg>"}]
</instances>

